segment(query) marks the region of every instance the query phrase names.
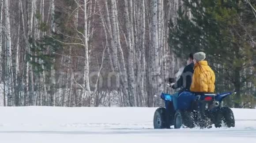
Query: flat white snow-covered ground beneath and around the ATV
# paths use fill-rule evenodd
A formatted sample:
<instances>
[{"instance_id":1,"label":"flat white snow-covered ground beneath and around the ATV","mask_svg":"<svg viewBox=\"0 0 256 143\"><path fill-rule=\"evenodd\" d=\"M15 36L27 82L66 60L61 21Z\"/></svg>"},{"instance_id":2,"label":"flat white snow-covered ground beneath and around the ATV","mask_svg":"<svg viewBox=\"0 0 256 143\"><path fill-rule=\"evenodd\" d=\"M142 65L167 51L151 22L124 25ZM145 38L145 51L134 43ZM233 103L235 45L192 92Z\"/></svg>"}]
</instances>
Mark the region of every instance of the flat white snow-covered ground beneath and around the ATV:
<instances>
[{"instance_id":1,"label":"flat white snow-covered ground beneath and around the ATV","mask_svg":"<svg viewBox=\"0 0 256 143\"><path fill-rule=\"evenodd\" d=\"M256 109L233 129L153 129L155 109L0 107L0 143L256 143Z\"/></svg>"}]
</instances>

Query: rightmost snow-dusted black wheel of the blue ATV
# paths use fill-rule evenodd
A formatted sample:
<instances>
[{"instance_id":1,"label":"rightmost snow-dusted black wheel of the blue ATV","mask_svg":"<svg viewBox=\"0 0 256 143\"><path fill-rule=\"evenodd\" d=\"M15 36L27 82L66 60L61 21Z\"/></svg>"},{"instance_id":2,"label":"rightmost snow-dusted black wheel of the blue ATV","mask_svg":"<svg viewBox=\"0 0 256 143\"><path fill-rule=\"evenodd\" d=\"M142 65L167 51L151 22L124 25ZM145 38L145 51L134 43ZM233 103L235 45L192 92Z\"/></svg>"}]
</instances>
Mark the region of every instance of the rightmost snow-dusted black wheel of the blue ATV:
<instances>
[{"instance_id":1,"label":"rightmost snow-dusted black wheel of the blue ATV","mask_svg":"<svg viewBox=\"0 0 256 143\"><path fill-rule=\"evenodd\" d=\"M222 125L231 128L235 126L233 111L229 107L222 107L215 117L215 127L220 128Z\"/></svg>"}]
</instances>

